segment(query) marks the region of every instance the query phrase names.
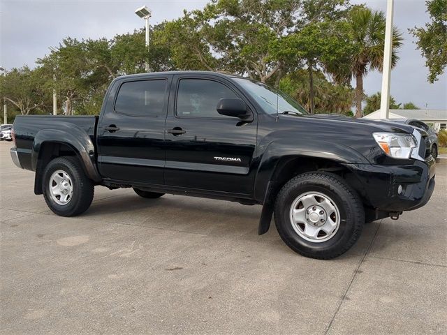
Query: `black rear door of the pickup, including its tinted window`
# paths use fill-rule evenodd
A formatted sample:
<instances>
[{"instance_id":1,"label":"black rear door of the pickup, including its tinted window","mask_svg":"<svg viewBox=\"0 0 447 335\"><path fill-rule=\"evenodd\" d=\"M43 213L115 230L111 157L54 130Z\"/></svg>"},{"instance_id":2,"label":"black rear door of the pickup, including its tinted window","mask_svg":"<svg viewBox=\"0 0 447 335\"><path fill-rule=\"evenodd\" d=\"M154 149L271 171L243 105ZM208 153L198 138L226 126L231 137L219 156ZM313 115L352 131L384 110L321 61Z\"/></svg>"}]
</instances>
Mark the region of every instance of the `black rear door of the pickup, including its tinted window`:
<instances>
[{"instance_id":1,"label":"black rear door of the pickup, including its tinted window","mask_svg":"<svg viewBox=\"0 0 447 335\"><path fill-rule=\"evenodd\" d=\"M171 80L172 75L152 75L115 82L97 131L103 177L164 184L164 127Z\"/></svg>"}]
</instances>

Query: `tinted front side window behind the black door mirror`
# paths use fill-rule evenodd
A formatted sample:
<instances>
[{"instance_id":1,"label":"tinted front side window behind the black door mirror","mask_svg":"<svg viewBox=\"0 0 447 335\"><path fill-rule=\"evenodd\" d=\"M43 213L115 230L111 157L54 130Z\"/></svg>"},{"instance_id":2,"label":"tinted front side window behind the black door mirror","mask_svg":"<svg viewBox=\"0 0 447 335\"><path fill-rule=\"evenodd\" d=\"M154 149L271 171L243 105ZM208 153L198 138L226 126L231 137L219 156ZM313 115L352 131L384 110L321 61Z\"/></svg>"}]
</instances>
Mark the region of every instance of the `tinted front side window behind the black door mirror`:
<instances>
[{"instance_id":1,"label":"tinted front side window behind the black door mirror","mask_svg":"<svg viewBox=\"0 0 447 335\"><path fill-rule=\"evenodd\" d=\"M177 92L178 117L225 117L217 112L222 98L239 98L220 82L205 79L182 79Z\"/></svg>"}]
</instances>

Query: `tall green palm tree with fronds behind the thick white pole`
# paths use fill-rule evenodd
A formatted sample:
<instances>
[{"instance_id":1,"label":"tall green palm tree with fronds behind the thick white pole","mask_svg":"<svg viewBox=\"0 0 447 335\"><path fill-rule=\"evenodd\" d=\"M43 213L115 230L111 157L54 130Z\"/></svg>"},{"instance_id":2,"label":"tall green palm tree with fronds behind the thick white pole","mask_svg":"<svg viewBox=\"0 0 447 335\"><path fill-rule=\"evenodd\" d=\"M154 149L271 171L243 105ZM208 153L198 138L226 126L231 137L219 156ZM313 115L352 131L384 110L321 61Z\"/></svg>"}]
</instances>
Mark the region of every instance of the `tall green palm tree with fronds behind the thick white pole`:
<instances>
[{"instance_id":1,"label":"tall green palm tree with fronds behind the thick white pole","mask_svg":"<svg viewBox=\"0 0 447 335\"><path fill-rule=\"evenodd\" d=\"M363 77L369 70L382 71L383 68L386 19L381 11L354 6L347 23L356 51L350 55L348 66L333 66L328 72L340 82L356 78L356 117L362 117ZM392 67L399 60L397 50L402 46L402 40L402 33L393 27Z\"/></svg>"}]
</instances>

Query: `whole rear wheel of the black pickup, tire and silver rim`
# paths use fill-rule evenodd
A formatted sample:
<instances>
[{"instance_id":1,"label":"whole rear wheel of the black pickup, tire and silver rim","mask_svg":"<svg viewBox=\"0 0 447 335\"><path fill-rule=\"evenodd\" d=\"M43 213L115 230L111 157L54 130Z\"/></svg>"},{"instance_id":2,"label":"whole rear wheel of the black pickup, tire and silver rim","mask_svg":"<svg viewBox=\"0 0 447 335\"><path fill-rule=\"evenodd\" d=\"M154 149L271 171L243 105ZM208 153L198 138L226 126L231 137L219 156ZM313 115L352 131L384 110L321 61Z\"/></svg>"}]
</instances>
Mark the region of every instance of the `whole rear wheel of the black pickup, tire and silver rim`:
<instances>
[{"instance_id":1,"label":"whole rear wheel of the black pickup, tire and silver rim","mask_svg":"<svg viewBox=\"0 0 447 335\"><path fill-rule=\"evenodd\" d=\"M89 209L94 185L76 157L54 158L43 172L43 197L59 216L76 216Z\"/></svg>"}]
</instances>

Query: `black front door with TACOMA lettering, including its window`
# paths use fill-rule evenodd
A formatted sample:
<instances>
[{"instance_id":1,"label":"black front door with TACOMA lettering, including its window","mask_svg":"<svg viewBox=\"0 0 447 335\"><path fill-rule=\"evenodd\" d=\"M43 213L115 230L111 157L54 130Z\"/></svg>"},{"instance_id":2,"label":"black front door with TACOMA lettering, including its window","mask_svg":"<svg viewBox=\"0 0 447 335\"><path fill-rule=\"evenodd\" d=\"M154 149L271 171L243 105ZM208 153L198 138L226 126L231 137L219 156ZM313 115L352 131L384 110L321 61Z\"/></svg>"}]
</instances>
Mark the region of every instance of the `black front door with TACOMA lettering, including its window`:
<instances>
[{"instance_id":1,"label":"black front door with TACOMA lettering, including its window","mask_svg":"<svg viewBox=\"0 0 447 335\"><path fill-rule=\"evenodd\" d=\"M242 98L220 78L176 75L166 118L167 186L251 194L257 116L251 122L217 112L221 98Z\"/></svg>"}]
</instances>

